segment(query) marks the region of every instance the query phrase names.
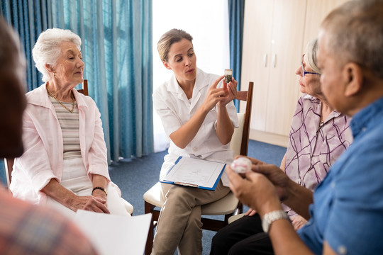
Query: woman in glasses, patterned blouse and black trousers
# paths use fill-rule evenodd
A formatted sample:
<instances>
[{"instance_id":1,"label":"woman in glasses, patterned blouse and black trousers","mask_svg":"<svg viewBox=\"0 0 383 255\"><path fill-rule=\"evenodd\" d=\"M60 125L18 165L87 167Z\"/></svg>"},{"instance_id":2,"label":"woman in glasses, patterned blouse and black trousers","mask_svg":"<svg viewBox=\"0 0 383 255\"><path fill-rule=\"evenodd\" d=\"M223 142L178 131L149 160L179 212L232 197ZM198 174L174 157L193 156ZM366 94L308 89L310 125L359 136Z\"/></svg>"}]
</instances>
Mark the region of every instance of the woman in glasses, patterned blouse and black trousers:
<instances>
[{"instance_id":1,"label":"woman in glasses, patterned blouse and black trousers","mask_svg":"<svg viewBox=\"0 0 383 255\"><path fill-rule=\"evenodd\" d=\"M311 190L353 141L350 118L334 111L321 91L317 48L316 39L309 42L295 71L303 95L296 106L289 145L281 163L290 179ZM283 206L296 230L306 223L303 217ZM211 254L272 254L270 238L263 232L255 210L250 208L244 217L221 229L213 237Z\"/></svg>"}]
</instances>

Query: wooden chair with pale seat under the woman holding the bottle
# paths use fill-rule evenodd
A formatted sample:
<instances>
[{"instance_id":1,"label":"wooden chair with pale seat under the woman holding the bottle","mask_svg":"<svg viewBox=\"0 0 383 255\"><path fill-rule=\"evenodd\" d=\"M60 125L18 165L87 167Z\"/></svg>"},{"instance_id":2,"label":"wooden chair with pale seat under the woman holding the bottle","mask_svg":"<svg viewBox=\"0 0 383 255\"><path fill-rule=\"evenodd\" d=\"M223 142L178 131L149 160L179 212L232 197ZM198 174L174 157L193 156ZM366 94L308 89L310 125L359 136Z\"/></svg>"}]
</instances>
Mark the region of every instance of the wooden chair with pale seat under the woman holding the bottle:
<instances>
[{"instance_id":1,"label":"wooden chair with pale seat under the woman holding the bottle","mask_svg":"<svg viewBox=\"0 0 383 255\"><path fill-rule=\"evenodd\" d=\"M235 128L231 140L231 149L233 149L234 156L239 154L245 156L248 155L252 86L253 83L250 82L248 91L237 92L236 99L246 101L246 108L245 113L237 114L239 127ZM145 200L145 213L152 213L152 221L150 224L148 239L146 241L145 254L150 254L152 252L154 229L160 216L160 210L158 210L158 208L162 208L162 205L165 203L165 200L162 199L161 193L161 183L157 182L143 195ZM228 225L229 217L243 212L243 205L237 198L235 198L234 194L230 192L220 200L202 205L201 211L202 215L225 215L224 220L201 217L203 229L218 231L222 227Z\"/></svg>"}]
</instances>

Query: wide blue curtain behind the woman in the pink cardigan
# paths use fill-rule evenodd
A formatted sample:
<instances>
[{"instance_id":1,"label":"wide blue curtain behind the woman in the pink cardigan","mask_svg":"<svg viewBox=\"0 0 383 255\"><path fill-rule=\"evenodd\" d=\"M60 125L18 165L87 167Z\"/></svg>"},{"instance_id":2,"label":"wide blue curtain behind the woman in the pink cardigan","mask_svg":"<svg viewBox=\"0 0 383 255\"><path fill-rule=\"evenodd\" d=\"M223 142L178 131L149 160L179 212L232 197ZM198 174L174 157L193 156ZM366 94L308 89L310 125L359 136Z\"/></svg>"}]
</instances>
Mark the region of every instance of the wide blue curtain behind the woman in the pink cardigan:
<instances>
[{"instance_id":1,"label":"wide blue curtain behind the woman in the pink cardigan","mask_svg":"<svg viewBox=\"0 0 383 255\"><path fill-rule=\"evenodd\" d=\"M31 60L40 32L70 29L82 38L84 79L101 112L108 159L153 151L151 0L1 0L1 13L21 36L28 91L42 83Z\"/></svg>"}]
</instances>

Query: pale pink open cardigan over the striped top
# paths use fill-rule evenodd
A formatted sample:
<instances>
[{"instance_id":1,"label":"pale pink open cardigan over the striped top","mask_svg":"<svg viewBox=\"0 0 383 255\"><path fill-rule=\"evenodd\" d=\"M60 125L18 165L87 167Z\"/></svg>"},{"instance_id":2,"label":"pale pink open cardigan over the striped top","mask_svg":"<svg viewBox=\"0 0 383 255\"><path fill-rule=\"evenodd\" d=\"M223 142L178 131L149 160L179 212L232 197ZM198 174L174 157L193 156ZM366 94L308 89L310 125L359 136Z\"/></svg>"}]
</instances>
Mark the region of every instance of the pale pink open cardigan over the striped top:
<instances>
[{"instance_id":1,"label":"pale pink open cardigan over the striped top","mask_svg":"<svg viewBox=\"0 0 383 255\"><path fill-rule=\"evenodd\" d=\"M73 89L79 108L79 139L82 161L91 174L110 181L101 114L89 96ZM32 203L45 203L40 192L50 179L62 177L63 144L60 123L48 98L45 84L26 94L28 106L23 115L24 154L13 164L10 189L13 196Z\"/></svg>"}]
</instances>

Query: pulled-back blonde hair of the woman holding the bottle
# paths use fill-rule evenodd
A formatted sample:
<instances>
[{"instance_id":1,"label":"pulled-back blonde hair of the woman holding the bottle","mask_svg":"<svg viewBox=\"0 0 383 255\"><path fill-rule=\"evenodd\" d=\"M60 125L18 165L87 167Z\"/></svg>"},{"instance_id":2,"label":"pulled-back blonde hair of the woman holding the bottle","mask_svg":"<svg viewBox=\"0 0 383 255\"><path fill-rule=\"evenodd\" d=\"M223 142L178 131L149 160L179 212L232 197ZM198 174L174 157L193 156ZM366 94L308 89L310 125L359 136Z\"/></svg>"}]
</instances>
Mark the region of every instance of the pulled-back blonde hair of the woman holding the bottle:
<instances>
[{"instance_id":1,"label":"pulled-back blonde hair of the woman holding the bottle","mask_svg":"<svg viewBox=\"0 0 383 255\"><path fill-rule=\"evenodd\" d=\"M179 42L182 39L189 40L190 42L193 40L189 33L177 28L173 28L161 36L160 40L157 42L157 50L161 61L167 61L172 44L174 42ZM193 42L191 42L191 44L192 43Z\"/></svg>"}]
</instances>

